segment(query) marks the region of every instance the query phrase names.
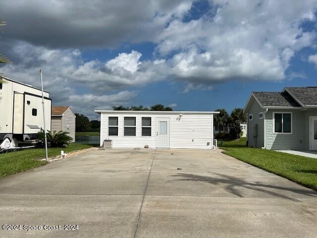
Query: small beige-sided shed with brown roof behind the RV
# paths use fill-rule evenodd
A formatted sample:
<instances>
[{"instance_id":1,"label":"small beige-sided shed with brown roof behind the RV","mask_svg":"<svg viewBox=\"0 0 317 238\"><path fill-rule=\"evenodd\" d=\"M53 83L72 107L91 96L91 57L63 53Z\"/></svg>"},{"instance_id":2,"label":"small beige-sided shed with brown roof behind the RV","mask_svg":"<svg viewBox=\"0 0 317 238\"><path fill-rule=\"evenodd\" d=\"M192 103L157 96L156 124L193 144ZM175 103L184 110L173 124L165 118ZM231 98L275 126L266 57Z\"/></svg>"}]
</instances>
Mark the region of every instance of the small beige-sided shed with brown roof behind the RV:
<instances>
[{"instance_id":1,"label":"small beige-sided shed with brown roof behind the RV","mask_svg":"<svg viewBox=\"0 0 317 238\"><path fill-rule=\"evenodd\" d=\"M66 131L75 142L76 116L70 107L52 107L52 131Z\"/></svg>"}]
</instances>

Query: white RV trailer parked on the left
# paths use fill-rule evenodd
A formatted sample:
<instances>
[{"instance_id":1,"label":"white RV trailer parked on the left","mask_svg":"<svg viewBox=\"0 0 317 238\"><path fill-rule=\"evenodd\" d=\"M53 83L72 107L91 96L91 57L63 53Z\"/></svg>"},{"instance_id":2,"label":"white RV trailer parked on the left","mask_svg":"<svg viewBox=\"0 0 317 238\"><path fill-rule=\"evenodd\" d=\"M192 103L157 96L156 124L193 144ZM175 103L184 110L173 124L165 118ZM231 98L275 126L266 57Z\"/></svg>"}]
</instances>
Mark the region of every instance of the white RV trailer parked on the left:
<instances>
[{"instance_id":1,"label":"white RV trailer parked on the left","mask_svg":"<svg viewBox=\"0 0 317 238\"><path fill-rule=\"evenodd\" d=\"M44 91L46 129L51 130L50 93ZM0 76L0 141L33 139L44 128L42 91Z\"/></svg>"}]
</instances>

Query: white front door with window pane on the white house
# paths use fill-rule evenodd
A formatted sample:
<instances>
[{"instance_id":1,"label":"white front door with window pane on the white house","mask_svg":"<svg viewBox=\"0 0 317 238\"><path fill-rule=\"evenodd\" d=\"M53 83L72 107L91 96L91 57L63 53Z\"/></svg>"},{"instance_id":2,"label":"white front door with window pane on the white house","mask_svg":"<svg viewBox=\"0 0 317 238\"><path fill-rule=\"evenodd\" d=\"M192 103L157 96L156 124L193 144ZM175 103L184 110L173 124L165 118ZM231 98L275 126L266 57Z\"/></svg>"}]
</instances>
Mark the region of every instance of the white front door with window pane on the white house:
<instances>
[{"instance_id":1,"label":"white front door with window pane on the white house","mask_svg":"<svg viewBox=\"0 0 317 238\"><path fill-rule=\"evenodd\" d=\"M169 118L157 118L157 148L169 148Z\"/></svg>"}]
</instances>

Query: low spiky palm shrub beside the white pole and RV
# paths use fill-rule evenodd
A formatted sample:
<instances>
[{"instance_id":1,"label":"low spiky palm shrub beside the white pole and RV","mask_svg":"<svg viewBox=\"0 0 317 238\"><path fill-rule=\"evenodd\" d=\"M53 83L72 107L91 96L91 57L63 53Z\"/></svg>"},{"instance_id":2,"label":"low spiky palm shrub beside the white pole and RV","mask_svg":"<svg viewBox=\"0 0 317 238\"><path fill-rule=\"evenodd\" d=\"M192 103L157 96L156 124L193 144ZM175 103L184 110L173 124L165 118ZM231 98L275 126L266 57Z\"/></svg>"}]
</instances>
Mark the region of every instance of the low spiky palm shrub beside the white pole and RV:
<instances>
[{"instance_id":1,"label":"low spiky palm shrub beside the white pole and RV","mask_svg":"<svg viewBox=\"0 0 317 238\"><path fill-rule=\"evenodd\" d=\"M72 138L67 135L68 132L66 131L58 131L56 132L55 130L53 133L48 130L46 133L48 143L50 143L51 147L63 147L65 145L68 145L71 141ZM43 145L45 135L44 135L44 130L41 129L41 131L38 133L38 139L40 140L39 142Z\"/></svg>"}]
</instances>

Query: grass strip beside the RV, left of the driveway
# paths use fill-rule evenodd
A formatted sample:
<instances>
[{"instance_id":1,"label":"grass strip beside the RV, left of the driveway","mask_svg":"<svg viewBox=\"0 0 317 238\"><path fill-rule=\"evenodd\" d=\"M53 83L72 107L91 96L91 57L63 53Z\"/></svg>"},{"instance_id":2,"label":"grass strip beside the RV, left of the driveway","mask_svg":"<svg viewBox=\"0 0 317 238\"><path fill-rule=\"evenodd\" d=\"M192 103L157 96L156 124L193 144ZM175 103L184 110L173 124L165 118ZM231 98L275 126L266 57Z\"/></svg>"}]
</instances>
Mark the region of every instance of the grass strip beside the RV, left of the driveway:
<instances>
[{"instance_id":1,"label":"grass strip beside the RV, left of the driveway","mask_svg":"<svg viewBox=\"0 0 317 238\"><path fill-rule=\"evenodd\" d=\"M93 145L71 143L65 148L49 148L48 155L49 157L54 157L59 155L61 150L65 153L69 153L75 150L87 149L92 146ZM46 161L39 161L41 158L45 158L45 149L27 149L0 154L0 178L45 165Z\"/></svg>"}]
</instances>

